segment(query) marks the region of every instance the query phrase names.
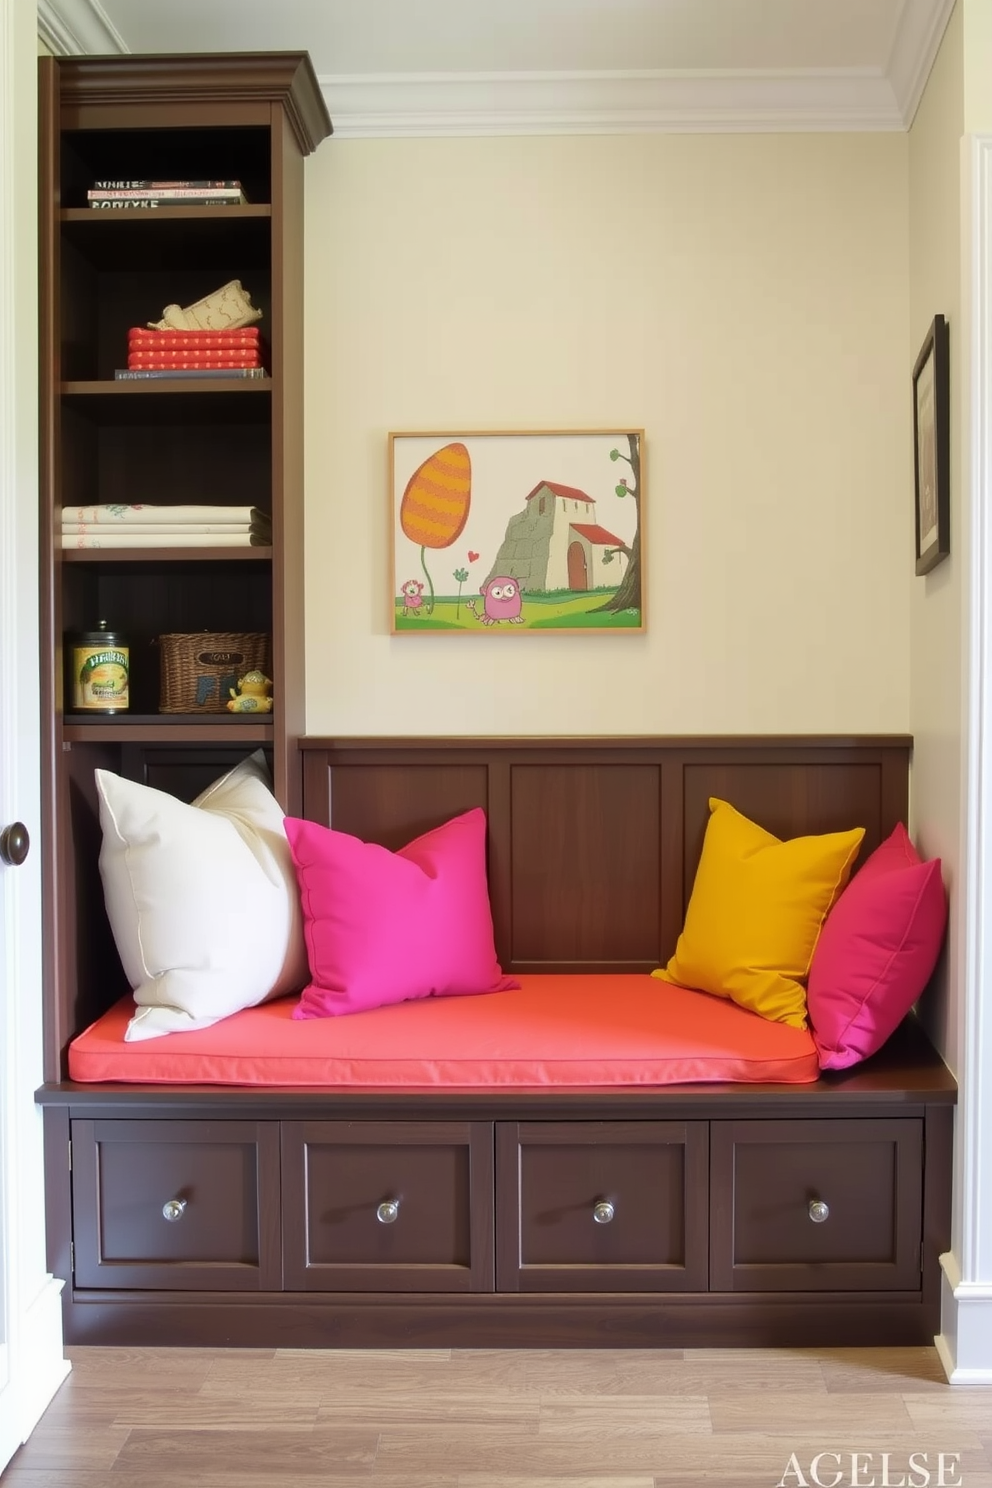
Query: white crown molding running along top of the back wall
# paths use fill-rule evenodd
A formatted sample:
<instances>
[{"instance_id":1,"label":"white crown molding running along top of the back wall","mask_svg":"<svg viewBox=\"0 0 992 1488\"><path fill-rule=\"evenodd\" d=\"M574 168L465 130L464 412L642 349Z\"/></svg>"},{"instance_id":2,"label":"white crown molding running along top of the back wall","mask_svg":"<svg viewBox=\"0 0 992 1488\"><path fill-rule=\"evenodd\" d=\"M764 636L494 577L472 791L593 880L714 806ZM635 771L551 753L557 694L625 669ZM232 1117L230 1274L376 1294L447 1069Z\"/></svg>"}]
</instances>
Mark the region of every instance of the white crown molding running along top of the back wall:
<instances>
[{"instance_id":1,"label":"white crown molding running along top of the back wall","mask_svg":"<svg viewBox=\"0 0 992 1488\"><path fill-rule=\"evenodd\" d=\"M880 73L397 73L320 77L339 138L903 129Z\"/></svg>"}]
</instances>

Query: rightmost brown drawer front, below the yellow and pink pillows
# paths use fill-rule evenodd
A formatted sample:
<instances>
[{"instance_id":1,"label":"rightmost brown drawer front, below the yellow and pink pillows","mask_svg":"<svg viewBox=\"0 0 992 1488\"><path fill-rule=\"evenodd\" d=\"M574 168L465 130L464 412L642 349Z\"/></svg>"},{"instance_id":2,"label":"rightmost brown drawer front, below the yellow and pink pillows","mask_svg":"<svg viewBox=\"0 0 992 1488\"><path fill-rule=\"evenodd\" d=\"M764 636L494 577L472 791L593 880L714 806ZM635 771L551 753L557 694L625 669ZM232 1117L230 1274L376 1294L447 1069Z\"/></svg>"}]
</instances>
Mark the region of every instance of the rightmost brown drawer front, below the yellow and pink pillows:
<instances>
[{"instance_id":1,"label":"rightmost brown drawer front, below the yellow and pink pillows","mask_svg":"<svg viewBox=\"0 0 992 1488\"><path fill-rule=\"evenodd\" d=\"M714 1122L712 1292L921 1289L922 1122Z\"/></svg>"}]
</instances>

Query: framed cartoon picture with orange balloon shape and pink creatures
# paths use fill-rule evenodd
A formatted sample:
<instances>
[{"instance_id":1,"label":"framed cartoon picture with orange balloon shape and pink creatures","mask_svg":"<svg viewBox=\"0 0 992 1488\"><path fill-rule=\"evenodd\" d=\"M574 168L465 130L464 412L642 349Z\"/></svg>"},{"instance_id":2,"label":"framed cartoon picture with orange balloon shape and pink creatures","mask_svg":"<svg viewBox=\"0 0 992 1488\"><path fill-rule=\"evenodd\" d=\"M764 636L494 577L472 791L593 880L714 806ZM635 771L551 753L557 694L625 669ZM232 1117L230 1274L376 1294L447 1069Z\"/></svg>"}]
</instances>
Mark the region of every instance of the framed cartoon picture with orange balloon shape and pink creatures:
<instances>
[{"instance_id":1,"label":"framed cartoon picture with orange balloon shape and pink creatures","mask_svg":"<svg viewBox=\"0 0 992 1488\"><path fill-rule=\"evenodd\" d=\"M390 434L391 634L644 631L640 429Z\"/></svg>"}]
</instances>

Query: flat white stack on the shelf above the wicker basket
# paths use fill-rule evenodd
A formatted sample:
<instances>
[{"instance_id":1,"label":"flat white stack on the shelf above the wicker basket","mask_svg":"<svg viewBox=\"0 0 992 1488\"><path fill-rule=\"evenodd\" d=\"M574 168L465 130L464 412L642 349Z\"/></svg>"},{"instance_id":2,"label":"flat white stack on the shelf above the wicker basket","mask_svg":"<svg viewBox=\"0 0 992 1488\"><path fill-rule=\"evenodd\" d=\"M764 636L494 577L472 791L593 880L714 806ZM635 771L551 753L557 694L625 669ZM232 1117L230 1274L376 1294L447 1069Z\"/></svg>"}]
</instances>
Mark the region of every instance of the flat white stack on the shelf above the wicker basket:
<instances>
[{"instance_id":1,"label":"flat white stack on the shelf above the wicker basket","mask_svg":"<svg viewBox=\"0 0 992 1488\"><path fill-rule=\"evenodd\" d=\"M64 506L62 548L269 548L257 506Z\"/></svg>"}]
</instances>

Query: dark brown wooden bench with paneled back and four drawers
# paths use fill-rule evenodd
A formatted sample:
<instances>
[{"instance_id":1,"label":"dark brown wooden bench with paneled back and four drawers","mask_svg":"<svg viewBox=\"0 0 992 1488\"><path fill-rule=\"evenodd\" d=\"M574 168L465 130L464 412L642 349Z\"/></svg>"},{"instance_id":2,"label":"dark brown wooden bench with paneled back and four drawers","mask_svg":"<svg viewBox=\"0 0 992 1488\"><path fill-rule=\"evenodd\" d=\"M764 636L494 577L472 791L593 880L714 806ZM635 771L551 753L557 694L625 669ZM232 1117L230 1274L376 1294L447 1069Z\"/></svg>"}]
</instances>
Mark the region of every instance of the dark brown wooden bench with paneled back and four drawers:
<instances>
[{"instance_id":1,"label":"dark brown wooden bench with paneled back and four drawers","mask_svg":"<svg viewBox=\"0 0 992 1488\"><path fill-rule=\"evenodd\" d=\"M666 963L711 796L779 838L861 826L861 860L907 815L904 737L303 750L305 814L366 841L396 850L486 811L497 952L525 990ZM744 1347L938 1330L955 1083L915 1018L869 1061L805 1083L65 1079L39 1100L70 1342Z\"/></svg>"}]
</instances>

